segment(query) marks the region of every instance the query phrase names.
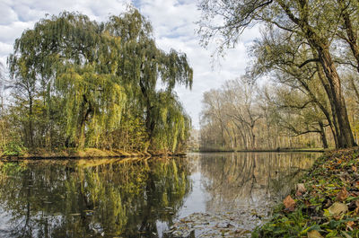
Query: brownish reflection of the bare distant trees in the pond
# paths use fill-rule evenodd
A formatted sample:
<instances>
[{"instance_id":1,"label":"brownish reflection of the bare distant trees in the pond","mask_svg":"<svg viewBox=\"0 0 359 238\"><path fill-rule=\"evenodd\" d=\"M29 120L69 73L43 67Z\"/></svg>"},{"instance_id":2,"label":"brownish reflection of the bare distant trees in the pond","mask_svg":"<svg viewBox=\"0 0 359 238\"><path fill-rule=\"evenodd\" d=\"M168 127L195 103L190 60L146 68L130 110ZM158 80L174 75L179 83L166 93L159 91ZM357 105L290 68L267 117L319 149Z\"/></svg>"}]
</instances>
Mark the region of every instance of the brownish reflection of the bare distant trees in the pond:
<instances>
[{"instance_id":1,"label":"brownish reflection of the bare distant trees in the pond","mask_svg":"<svg viewBox=\"0 0 359 238\"><path fill-rule=\"evenodd\" d=\"M208 209L266 207L293 188L316 154L212 154L200 159Z\"/></svg>"}]
</instances>

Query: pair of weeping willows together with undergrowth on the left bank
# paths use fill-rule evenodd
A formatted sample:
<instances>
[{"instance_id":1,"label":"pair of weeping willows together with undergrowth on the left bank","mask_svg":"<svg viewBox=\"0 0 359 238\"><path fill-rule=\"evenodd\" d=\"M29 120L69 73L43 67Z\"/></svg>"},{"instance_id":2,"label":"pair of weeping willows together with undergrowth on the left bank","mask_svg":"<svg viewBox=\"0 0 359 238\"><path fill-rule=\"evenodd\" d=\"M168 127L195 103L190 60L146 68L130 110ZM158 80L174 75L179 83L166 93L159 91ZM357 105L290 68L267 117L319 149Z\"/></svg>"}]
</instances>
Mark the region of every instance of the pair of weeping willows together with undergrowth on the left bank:
<instances>
[{"instance_id":1,"label":"pair of weeping willows together with undergrowth on the left bank","mask_svg":"<svg viewBox=\"0 0 359 238\"><path fill-rule=\"evenodd\" d=\"M174 151L185 141L189 119L173 88L190 88L192 69L185 54L157 48L135 8L108 22L67 12L42 19L8 63L29 147L116 148L139 137L132 149Z\"/></svg>"}]
</instances>

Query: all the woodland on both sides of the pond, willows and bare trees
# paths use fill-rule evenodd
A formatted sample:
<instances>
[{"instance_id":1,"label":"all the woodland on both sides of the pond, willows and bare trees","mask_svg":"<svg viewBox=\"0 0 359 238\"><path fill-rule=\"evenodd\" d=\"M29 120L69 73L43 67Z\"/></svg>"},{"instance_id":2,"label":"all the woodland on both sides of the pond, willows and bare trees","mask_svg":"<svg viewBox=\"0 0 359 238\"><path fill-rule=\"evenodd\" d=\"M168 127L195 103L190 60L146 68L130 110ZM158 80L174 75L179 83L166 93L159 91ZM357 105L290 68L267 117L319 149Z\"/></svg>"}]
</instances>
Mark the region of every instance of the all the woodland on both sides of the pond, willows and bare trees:
<instances>
[{"instance_id":1,"label":"all the woodland on both sides of the pond, willows and bare trees","mask_svg":"<svg viewBox=\"0 0 359 238\"><path fill-rule=\"evenodd\" d=\"M225 55L259 25L244 75L206 91L201 150L345 148L359 137L359 4L200 1L200 44ZM320 10L319 10L320 9ZM223 22L216 21L222 16ZM218 43L219 42L219 43ZM0 151L98 148L180 152L191 121L185 53L158 48L135 7L94 22L46 16L22 32L1 71Z\"/></svg>"}]
</instances>

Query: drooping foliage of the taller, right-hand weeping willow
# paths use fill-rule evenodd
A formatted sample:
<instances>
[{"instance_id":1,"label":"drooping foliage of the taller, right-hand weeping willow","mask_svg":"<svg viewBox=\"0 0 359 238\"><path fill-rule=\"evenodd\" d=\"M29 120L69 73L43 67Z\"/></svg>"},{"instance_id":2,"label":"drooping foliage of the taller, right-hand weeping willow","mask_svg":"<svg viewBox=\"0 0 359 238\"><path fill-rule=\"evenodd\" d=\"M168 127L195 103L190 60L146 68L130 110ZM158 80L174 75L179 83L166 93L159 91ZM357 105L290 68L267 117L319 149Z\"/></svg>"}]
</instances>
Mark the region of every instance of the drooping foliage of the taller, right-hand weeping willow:
<instances>
[{"instance_id":1,"label":"drooping foliage of the taller, right-hand weeping willow","mask_svg":"<svg viewBox=\"0 0 359 238\"><path fill-rule=\"evenodd\" d=\"M158 137L160 132L160 137L167 137L167 134L172 132L165 129L154 132L160 123L156 115L159 107L166 109L166 103L170 102L158 103L161 101L161 93L155 90L156 84L161 80L167 95L171 95L176 84L184 84L190 88L193 79L192 69L185 54L180 54L174 49L166 53L156 47L151 24L136 9L110 17L106 29L112 35L121 38L123 60L120 61L118 74L122 76L124 84L130 85L126 87L130 101L138 101L137 111L139 114L144 113L149 144L152 145L154 137ZM160 145L162 148L162 144Z\"/></svg>"}]
</instances>

